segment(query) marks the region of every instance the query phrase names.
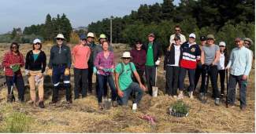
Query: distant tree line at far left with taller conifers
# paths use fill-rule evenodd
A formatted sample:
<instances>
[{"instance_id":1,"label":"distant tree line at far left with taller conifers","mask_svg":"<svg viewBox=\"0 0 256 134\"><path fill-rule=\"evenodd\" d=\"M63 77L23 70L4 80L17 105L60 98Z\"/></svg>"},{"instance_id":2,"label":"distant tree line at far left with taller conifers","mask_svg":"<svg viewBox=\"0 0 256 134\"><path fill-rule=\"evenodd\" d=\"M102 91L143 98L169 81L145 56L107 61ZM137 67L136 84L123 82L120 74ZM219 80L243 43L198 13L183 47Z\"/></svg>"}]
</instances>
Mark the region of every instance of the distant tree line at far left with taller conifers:
<instances>
[{"instance_id":1,"label":"distant tree line at far left with taller conifers","mask_svg":"<svg viewBox=\"0 0 256 134\"><path fill-rule=\"evenodd\" d=\"M61 16L58 14L56 17L51 17L50 14L47 14L44 24L33 24L32 26L24 27L24 31L20 27L13 28L10 34L2 34L0 41L31 43L35 38L51 41L58 33L62 33L67 42L69 42L71 32L72 25L64 13Z\"/></svg>"}]
</instances>

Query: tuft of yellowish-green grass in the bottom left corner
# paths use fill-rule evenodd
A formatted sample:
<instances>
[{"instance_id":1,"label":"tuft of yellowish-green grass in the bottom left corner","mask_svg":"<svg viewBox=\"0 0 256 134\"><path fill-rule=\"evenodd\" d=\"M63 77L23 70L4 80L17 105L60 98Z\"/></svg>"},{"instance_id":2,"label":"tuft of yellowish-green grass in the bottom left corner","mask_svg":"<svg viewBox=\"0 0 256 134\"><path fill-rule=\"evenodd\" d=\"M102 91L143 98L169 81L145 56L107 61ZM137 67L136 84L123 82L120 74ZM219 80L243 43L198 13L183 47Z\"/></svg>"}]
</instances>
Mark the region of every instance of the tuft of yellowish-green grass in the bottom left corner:
<instances>
[{"instance_id":1,"label":"tuft of yellowish-green grass in the bottom left corner","mask_svg":"<svg viewBox=\"0 0 256 134\"><path fill-rule=\"evenodd\" d=\"M28 132L32 118L24 113L12 113L4 119L4 125L1 132Z\"/></svg>"}]
</instances>

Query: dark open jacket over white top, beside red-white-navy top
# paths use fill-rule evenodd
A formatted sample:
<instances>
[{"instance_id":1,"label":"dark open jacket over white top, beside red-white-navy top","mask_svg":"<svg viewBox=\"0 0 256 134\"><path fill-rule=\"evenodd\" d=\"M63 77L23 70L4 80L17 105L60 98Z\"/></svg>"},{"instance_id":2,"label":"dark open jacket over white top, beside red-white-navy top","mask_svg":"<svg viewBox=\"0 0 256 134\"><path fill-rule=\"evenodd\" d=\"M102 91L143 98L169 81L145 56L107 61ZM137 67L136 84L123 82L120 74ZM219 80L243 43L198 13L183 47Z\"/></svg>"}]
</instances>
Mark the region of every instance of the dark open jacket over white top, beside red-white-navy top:
<instances>
[{"instance_id":1,"label":"dark open jacket over white top, beside red-white-navy top","mask_svg":"<svg viewBox=\"0 0 256 134\"><path fill-rule=\"evenodd\" d=\"M180 46L180 60L182 59L182 55L183 51L181 49ZM180 65L180 60L179 60L179 65ZM175 48L174 48L174 44L171 46L170 51L168 49L166 49L165 52L165 60L164 60L164 70L167 64L174 64L175 63Z\"/></svg>"}]
</instances>

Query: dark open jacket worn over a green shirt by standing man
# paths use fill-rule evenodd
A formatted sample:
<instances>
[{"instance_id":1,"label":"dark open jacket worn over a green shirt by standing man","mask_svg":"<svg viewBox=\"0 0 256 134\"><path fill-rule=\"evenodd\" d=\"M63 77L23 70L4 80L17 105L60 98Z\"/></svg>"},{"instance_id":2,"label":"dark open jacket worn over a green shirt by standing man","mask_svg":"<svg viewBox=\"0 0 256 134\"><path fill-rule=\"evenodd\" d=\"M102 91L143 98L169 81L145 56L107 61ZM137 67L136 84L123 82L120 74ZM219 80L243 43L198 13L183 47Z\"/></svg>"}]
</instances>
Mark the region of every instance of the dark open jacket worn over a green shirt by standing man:
<instances>
[{"instance_id":1,"label":"dark open jacket worn over a green shirt by standing man","mask_svg":"<svg viewBox=\"0 0 256 134\"><path fill-rule=\"evenodd\" d=\"M148 49L148 43L143 45L143 49L146 50ZM158 58L161 57L161 45L158 44L158 42L153 42L153 54L154 54L154 63L158 60Z\"/></svg>"}]
</instances>

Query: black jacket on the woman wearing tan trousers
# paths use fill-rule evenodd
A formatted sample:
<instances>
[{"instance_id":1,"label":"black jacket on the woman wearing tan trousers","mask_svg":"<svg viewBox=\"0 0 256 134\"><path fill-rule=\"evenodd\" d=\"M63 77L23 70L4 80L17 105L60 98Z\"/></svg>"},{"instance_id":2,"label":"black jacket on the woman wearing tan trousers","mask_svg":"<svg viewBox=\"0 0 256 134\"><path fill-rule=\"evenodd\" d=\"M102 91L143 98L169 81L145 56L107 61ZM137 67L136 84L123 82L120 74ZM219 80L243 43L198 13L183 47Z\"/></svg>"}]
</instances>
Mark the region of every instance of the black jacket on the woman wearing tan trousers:
<instances>
[{"instance_id":1,"label":"black jacket on the woman wearing tan trousers","mask_svg":"<svg viewBox=\"0 0 256 134\"><path fill-rule=\"evenodd\" d=\"M36 60L34 60L33 51L29 51L26 55L25 69L29 71L46 71L46 54L41 51Z\"/></svg>"}]
</instances>

